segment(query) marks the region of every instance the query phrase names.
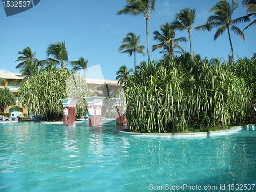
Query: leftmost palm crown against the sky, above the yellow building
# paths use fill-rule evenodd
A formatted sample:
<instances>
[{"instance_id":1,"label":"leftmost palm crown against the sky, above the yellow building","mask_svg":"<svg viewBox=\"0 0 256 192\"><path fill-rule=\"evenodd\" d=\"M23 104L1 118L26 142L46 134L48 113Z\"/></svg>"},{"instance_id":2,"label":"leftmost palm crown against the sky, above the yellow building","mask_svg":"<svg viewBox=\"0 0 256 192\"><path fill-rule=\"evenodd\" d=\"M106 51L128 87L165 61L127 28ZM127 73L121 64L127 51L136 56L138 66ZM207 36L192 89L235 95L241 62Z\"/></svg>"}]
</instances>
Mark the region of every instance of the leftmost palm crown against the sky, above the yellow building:
<instances>
[{"instance_id":1,"label":"leftmost palm crown against the sky, above the yellow building","mask_svg":"<svg viewBox=\"0 0 256 192\"><path fill-rule=\"evenodd\" d=\"M34 58L36 51L34 53L32 53L31 48L30 47L26 47L25 49L23 49L23 51L19 51L18 54L22 55L18 57L17 61L22 61L21 63L19 63L16 66L16 69L18 68L23 68L26 65L28 65L29 63L33 64L33 65L39 65L39 60Z\"/></svg>"}]
</instances>

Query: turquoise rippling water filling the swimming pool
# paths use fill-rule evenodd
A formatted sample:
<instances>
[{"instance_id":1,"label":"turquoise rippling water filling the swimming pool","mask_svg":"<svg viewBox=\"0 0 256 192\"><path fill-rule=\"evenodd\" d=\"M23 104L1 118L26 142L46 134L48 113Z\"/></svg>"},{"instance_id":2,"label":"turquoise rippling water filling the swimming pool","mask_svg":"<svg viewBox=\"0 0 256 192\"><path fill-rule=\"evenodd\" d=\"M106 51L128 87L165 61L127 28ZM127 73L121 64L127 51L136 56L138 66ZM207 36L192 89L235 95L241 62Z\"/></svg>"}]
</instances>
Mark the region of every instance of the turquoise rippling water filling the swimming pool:
<instances>
[{"instance_id":1,"label":"turquoise rippling water filling the swimming pool","mask_svg":"<svg viewBox=\"0 0 256 192\"><path fill-rule=\"evenodd\" d=\"M88 127L88 121L0 124L0 191L170 191L169 185L237 191L231 184L256 191L254 127L183 139L119 135L118 129Z\"/></svg>"}]
</instances>

